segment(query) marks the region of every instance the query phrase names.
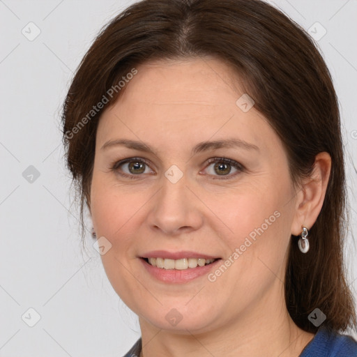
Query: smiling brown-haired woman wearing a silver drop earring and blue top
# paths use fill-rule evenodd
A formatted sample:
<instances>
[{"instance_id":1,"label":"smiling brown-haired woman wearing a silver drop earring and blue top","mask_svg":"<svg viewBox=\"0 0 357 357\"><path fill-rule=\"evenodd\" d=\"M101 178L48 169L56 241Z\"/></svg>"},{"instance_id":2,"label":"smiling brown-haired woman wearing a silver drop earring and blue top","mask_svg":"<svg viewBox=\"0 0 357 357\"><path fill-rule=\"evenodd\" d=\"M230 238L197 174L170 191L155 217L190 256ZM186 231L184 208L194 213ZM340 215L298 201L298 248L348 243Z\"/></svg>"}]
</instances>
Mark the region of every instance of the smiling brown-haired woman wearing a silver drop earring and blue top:
<instances>
[{"instance_id":1,"label":"smiling brown-haired woman wearing a silver drop earring and blue top","mask_svg":"<svg viewBox=\"0 0 357 357\"><path fill-rule=\"evenodd\" d=\"M357 356L344 161L321 55L257 0L145 0L82 60L68 167L126 356ZM83 222L83 221L82 221Z\"/></svg>"}]
</instances>

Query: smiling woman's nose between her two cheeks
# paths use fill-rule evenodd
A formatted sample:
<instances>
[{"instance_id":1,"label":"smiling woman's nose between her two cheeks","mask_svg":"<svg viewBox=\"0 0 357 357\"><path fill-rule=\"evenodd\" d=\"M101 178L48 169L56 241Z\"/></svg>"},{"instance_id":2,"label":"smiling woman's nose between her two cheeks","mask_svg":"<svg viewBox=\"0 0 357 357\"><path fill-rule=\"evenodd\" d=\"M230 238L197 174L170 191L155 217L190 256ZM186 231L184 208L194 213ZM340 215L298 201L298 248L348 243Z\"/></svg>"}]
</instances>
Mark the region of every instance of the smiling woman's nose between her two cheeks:
<instances>
[{"instance_id":1,"label":"smiling woman's nose between her two cheeks","mask_svg":"<svg viewBox=\"0 0 357 357\"><path fill-rule=\"evenodd\" d=\"M176 183L165 176L162 187L151 200L148 222L152 229L167 235L179 235L202 227L202 203L188 187L185 175Z\"/></svg>"}]
</instances>

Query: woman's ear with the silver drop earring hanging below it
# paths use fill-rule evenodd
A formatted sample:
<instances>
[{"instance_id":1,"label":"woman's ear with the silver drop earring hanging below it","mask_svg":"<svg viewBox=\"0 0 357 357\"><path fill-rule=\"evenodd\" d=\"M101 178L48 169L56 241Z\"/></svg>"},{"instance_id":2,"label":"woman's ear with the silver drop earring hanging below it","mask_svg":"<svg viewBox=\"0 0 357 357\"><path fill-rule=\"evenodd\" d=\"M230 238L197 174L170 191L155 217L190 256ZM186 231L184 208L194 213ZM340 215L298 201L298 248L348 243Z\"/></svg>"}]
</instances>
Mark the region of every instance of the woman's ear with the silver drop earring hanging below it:
<instances>
[{"instance_id":1,"label":"woman's ear with the silver drop earring hanging below it","mask_svg":"<svg viewBox=\"0 0 357 357\"><path fill-rule=\"evenodd\" d=\"M296 195L296 210L291 225L294 236L301 234L303 226L310 229L316 222L324 203L330 173L331 156L326 152L319 153L310 178L304 180Z\"/></svg>"}]
</instances>

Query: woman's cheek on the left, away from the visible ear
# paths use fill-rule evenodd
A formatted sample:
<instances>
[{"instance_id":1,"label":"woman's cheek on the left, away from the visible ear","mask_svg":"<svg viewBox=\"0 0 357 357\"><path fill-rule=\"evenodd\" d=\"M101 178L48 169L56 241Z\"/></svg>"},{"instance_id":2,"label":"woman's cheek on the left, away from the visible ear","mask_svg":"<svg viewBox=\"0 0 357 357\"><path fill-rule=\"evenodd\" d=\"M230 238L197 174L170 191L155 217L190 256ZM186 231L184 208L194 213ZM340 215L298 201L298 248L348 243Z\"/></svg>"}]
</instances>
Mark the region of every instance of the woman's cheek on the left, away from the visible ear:
<instances>
[{"instance_id":1,"label":"woman's cheek on the left, away from the visible ear","mask_svg":"<svg viewBox=\"0 0 357 357\"><path fill-rule=\"evenodd\" d=\"M130 269L130 259L134 257L130 252L135 234L135 213L142 202L138 192L130 194L98 172L93 174L91 187L92 220L97 237L104 236L111 244L100 256L102 265L116 293L131 307L132 296L141 297L142 294L136 284L139 279L133 279L135 271Z\"/></svg>"}]
</instances>

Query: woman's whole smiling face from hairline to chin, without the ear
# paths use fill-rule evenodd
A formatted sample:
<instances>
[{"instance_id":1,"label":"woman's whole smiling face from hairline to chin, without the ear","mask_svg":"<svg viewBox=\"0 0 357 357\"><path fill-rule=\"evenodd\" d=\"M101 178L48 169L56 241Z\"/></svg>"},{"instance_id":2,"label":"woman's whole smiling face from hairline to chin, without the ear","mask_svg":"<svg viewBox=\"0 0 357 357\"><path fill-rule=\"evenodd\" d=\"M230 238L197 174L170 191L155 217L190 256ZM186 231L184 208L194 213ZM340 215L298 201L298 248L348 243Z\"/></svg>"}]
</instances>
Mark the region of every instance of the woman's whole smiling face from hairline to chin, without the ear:
<instances>
[{"instance_id":1,"label":"woman's whole smiling face from hairline to chin, without the ear","mask_svg":"<svg viewBox=\"0 0 357 357\"><path fill-rule=\"evenodd\" d=\"M93 227L145 324L203 333L284 303L294 187L278 135L238 88L218 59L155 61L100 118Z\"/></svg>"}]
</instances>

